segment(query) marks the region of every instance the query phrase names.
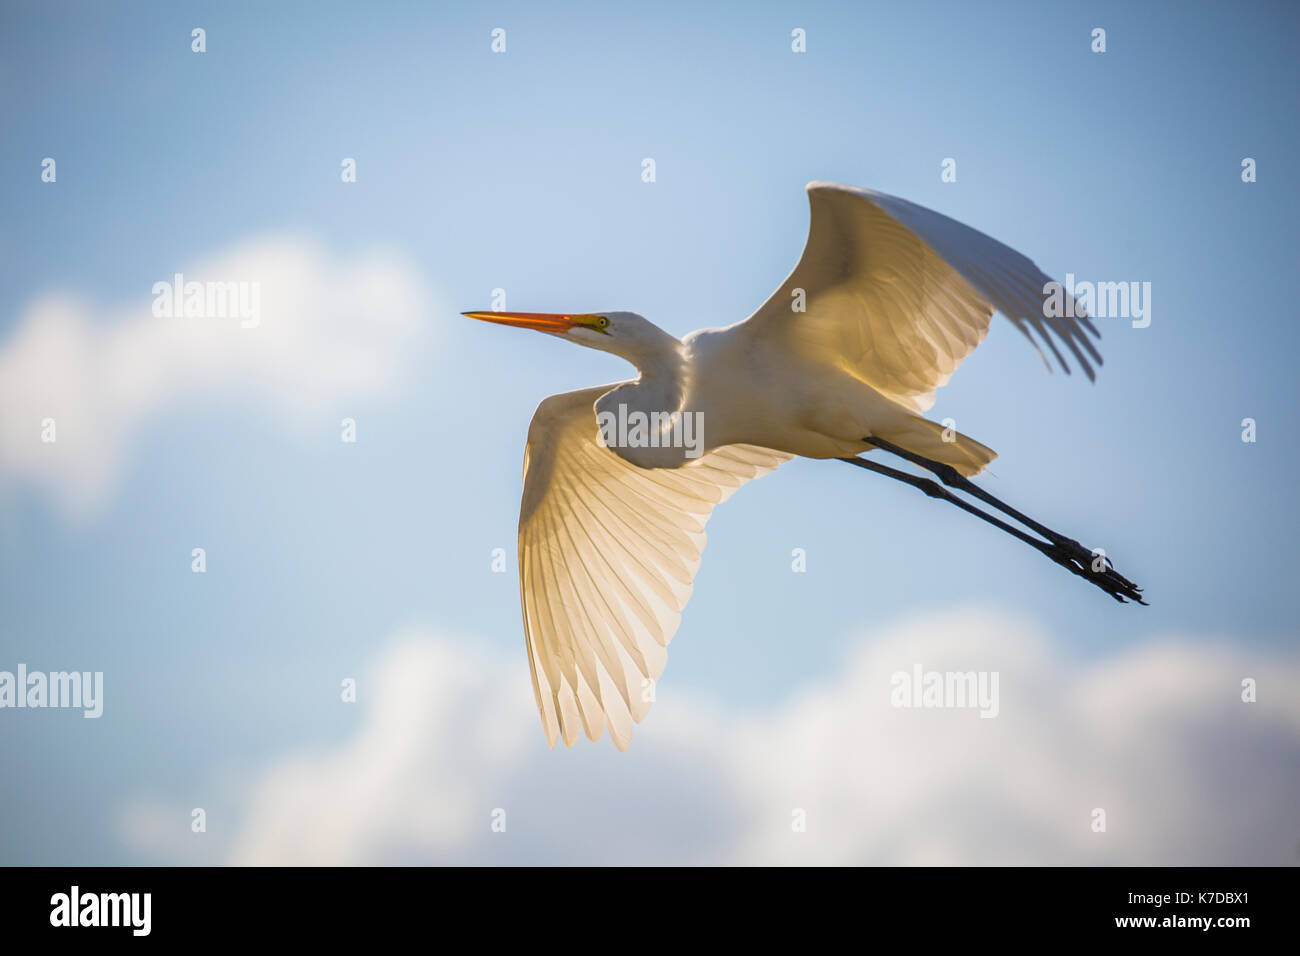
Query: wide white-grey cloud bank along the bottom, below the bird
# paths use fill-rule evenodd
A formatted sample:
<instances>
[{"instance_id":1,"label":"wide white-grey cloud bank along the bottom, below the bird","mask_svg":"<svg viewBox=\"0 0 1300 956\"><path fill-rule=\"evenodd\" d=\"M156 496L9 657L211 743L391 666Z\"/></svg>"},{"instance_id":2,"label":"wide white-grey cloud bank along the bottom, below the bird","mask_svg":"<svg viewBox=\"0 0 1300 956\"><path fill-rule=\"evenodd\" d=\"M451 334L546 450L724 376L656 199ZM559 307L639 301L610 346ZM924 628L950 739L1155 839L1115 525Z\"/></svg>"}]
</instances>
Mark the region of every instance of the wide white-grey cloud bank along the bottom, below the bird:
<instances>
[{"instance_id":1,"label":"wide white-grey cloud bank along the bottom, below the bird","mask_svg":"<svg viewBox=\"0 0 1300 956\"><path fill-rule=\"evenodd\" d=\"M681 698L670 669L620 754L606 741L547 750L524 661L408 636L361 682L356 735L256 779L229 808L238 832L220 852L239 864L1294 862L1294 659L1170 637L1066 662L1027 622L970 609L857 646L833 679L762 715ZM890 675L914 663L998 671L1000 715L890 706ZM1240 701L1245 676L1256 704ZM490 831L495 808L503 834ZM792 831L796 808L807 832ZM135 830L150 812L127 812Z\"/></svg>"}]
</instances>

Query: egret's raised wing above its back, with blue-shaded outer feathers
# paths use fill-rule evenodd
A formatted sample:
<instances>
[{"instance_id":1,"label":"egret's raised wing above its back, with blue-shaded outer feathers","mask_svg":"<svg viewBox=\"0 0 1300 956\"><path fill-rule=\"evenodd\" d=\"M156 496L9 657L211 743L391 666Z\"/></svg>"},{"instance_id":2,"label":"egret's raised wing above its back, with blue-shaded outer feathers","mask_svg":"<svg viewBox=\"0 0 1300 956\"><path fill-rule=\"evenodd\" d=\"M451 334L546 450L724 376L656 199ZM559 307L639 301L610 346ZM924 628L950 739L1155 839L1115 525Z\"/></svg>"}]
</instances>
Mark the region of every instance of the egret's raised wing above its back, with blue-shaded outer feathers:
<instances>
[{"instance_id":1,"label":"egret's raised wing above its back, with blue-shaded outer feathers","mask_svg":"<svg viewBox=\"0 0 1300 956\"><path fill-rule=\"evenodd\" d=\"M1076 317L1044 315L1050 280L1014 248L884 193L828 182L807 190L803 255L742 324L750 334L780 336L786 347L924 411L998 311L1035 349L1030 329L1037 332L1069 373L1054 333L1093 378L1101 355L1084 330L1100 337L1097 329L1079 308ZM805 293L805 312L792 310L796 289Z\"/></svg>"}]
</instances>

